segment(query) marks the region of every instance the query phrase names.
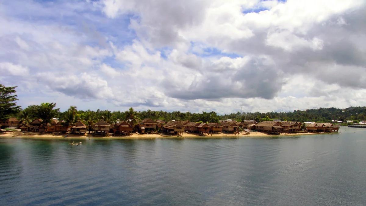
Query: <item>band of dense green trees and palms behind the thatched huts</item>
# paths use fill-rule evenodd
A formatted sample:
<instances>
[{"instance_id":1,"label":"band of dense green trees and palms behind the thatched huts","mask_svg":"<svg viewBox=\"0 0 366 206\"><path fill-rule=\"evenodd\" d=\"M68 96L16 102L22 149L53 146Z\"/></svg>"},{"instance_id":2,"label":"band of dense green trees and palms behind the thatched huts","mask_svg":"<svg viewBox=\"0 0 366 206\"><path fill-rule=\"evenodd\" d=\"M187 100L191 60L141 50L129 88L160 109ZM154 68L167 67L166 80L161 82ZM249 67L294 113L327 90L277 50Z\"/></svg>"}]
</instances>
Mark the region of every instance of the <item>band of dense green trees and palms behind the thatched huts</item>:
<instances>
[{"instance_id":1,"label":"band of dense green trees and palms behind the thatched huts","mask_svg":"<svg viewBox=\"0 0 366 206\"><path fill-rule=\"evenodd\" d=\"M41 118L45 122L50 122L52 118L64 120L67 125L72 125L78 120L82 120L87 125L92 125L99 119L103 119L109 123L126 120L133 124L145 118L168 120L189 120L191 122L219 122L222 119L255 120L257 122L267 121L271 119L281 119L283 121L299 121L299 122L330 122L332 120L345 122L352 120L354 122L366 119L366 107L348 107L346 109L338 108L318 108L309 110L294 110L291 112L268 112L268 113L231 113L225 115L217 115L216 112L190 113L181 111L135 111L130 108L127 111L109 111L109 110L77 110L75 106L71 106L67 111L60 112L56 107L56 103L42 103L40 105L31 105L24 110L16 105L15 95L16 87L4 87L0 84L0 119L6 119L11 116L18 117L23 123L28 124L35 118ZM20 111L20 112L19 112Z\"/></svg>"}]
</instances>

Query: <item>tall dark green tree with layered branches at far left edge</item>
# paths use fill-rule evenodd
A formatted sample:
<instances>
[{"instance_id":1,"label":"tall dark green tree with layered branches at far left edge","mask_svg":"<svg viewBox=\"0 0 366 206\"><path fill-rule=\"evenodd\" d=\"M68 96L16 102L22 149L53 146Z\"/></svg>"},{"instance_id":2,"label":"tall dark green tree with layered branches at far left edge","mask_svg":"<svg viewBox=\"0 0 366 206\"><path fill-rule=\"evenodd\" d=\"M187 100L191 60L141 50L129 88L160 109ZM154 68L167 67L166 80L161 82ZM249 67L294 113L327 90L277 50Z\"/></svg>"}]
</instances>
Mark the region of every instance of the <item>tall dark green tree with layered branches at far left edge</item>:
<instances>
[{"instance_id":1,"label":"tall dark green tree with layered branches at far left edge","mask_svg":"<svg viewBox=\"0 0 366 206\"><path fill-rule=\"evenodd\" d=\"M20 111L20 106L16 105L18 100L15 95L16 87L4 87L0 84L0 120L5 120Z\"/></svg>"}]
</instances>

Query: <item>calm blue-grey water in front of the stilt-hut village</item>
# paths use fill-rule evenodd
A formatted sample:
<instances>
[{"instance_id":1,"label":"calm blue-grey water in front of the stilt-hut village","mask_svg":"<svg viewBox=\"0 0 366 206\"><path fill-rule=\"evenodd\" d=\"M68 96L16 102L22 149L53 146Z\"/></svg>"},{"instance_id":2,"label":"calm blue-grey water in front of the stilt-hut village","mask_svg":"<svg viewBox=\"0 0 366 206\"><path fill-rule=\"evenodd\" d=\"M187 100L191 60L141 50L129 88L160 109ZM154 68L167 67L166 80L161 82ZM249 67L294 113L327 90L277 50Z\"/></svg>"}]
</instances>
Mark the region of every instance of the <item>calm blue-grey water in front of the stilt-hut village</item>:
<instances>
[{"instance_id":1,"label":"calm blue-grey water in front of the stilt-hut village","mask_svg":"<svg viewBox=\"0 0 366 206\"><path fill-rule=\"evenodd\" d=\"M0 205L366 204L363 128L263 139L68 142L0 139Z\"/></svg>"}]
</instances>

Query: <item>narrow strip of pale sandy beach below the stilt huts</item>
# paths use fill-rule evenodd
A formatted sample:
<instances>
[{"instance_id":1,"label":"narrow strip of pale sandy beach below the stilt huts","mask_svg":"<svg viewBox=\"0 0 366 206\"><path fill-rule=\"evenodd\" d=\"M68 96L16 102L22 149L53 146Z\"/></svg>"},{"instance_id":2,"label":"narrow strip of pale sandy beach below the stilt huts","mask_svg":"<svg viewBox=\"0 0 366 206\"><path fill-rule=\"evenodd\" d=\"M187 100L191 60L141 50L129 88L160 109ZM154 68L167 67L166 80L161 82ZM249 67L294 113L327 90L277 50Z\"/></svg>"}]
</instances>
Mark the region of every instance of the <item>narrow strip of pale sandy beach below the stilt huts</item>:
<instances>
[{"instance_id":1,"label":"narrow strip of pale sandy beach below the stilt huts","mask_svg":"<svg viewBox=\"0 0 366 206\"><path fill-rule=\"evenodd\" d=\"M262 132L251 132L250 135L234 135L234 134L213 134L207 136L199 136L191 133L183 133L183 136L171 136L165 137L160 136L158 134L132 134L131 136L105 136L105 137L94 137L91 134L85 135L74 135L68 134L67 137L65 135L50 135L50 134L40 134L38 132L2 132L0 133L0 138L22 138L22 139L46 139L46 140L73 140L73 139L96 139L96 140L137 140L137 139L224 139L224 138L252 138L252 137L282 137L282 136L298 136L298 135L315 135L322 133L290 133L290 134L281 134L281 135L268 135Z\"/></svg>"}]
</instances>

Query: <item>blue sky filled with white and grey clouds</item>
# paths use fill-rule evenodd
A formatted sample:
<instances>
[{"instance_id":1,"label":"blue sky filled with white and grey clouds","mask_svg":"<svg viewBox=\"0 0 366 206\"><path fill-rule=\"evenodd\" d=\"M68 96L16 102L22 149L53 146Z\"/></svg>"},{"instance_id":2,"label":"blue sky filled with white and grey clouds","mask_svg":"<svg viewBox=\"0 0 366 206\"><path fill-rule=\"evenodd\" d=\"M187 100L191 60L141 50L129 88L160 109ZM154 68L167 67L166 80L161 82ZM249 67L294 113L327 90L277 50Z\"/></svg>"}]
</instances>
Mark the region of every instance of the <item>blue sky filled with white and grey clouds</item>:
<instances>
[{"instance_id":1,"label":"blue sky filled with white and grey clouds","mask_svg":"<svg viewBox=\"0 0 366 206\"><path fill-rule=\"evenodd\" d=\"M366 106L365 22L362 0L0 0L0 84L61 111Z\"/></svg>"}]
</instances>

